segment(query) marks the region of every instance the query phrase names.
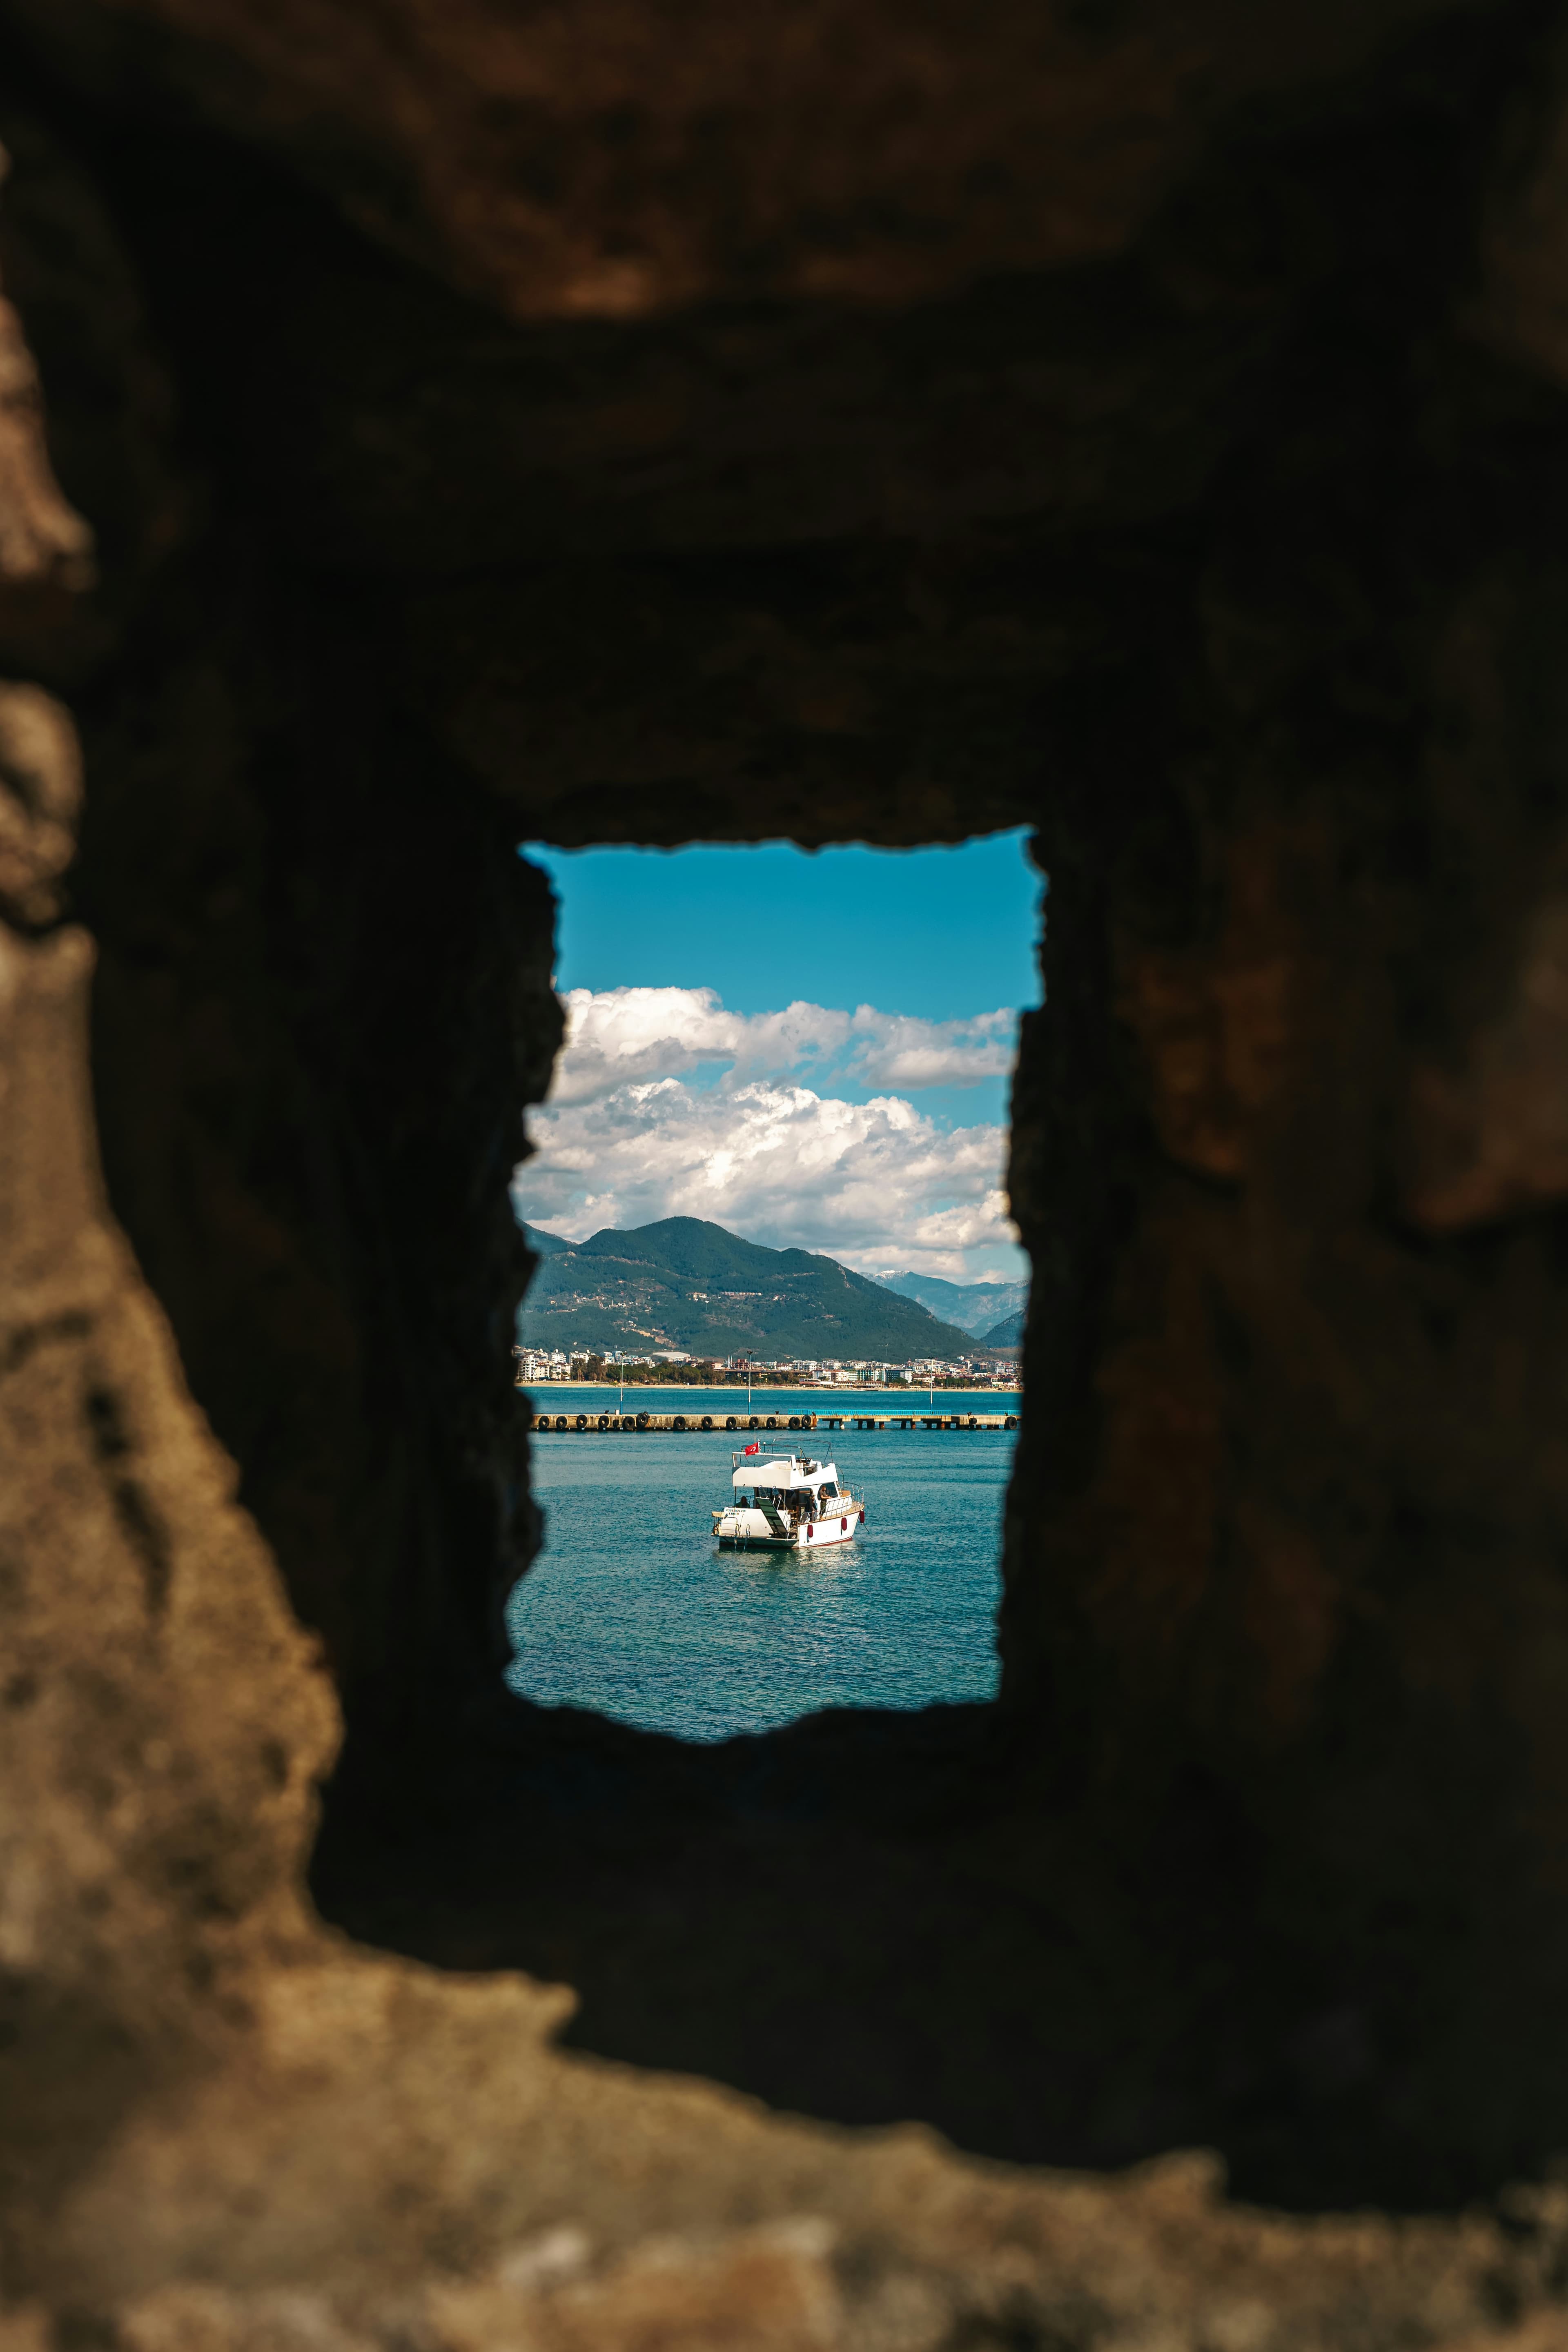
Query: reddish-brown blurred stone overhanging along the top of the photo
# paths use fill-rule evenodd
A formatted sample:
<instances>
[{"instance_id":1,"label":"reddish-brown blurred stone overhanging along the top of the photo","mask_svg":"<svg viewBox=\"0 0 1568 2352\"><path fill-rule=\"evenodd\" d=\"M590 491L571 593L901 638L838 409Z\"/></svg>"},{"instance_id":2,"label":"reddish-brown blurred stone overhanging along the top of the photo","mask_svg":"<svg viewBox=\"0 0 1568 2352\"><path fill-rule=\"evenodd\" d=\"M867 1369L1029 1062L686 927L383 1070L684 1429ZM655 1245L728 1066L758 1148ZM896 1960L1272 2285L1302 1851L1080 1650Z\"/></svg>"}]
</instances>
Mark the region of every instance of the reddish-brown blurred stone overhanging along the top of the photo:
<instances>
[{"instance_id":1,"label":"reddish-brown blurred stone overhanging along the top of the photo","mask_svg":"<svg viewBox=\"0 0 1568 2352\"><path fill-rule=\"evenodd\" d=\"M1225 108L1363 64L1432 14L1441 0L7 7L87 87L254 141L512 315L611 320L907 301L1114 252Z\"/></svg>"}]
</instances>

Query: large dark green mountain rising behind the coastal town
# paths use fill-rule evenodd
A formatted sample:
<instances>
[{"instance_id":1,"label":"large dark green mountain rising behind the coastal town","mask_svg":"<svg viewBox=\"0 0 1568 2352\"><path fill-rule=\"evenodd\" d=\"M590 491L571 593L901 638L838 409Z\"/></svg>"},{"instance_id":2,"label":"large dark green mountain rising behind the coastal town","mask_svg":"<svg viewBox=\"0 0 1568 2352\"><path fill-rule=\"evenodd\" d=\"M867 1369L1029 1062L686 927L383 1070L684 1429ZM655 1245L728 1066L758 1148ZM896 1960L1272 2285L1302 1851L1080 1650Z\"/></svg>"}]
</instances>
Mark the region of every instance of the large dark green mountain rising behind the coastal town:
<instances>
[{"instance_id":1,"label":"large dark green mountain rising behind the coastal town","mask_svg":"<svg viewBox=\"0 0 1568 2352\"><path fill-rule=\"evenodd\" d=\"M764 1249L698 1216L665 1216L588 1242L524 1228L538 1270L517 1317L527 1348L686 1355L969 1355L973 1336L919 1301L809 1249Z\"/></svg>"}]
</instances>

